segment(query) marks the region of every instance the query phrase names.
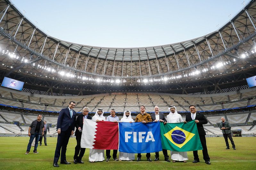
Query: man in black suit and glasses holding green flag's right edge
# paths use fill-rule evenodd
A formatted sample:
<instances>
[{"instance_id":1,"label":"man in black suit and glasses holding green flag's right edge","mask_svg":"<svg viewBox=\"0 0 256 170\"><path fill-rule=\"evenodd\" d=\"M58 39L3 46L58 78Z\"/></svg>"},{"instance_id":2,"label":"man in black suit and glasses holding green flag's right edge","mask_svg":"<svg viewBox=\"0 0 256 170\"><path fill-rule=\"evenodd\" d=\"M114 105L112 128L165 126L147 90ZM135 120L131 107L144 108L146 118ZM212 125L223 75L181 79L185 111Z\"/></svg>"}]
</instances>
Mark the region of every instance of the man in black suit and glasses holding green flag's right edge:
<instances>
[{"instance_id":1,"label":"man in black suit and glasses holding green flag's right edge","mask_svg":"<svg viewBox=\"0 0 256 170\"><path fill-rule=\"evenodd\" d=\"M201 141L201 144L202 144L202 147L203 147L203 150L202 150L203 159L205 160L206 164L210 165L211 162L210 162L210 157L208 155L207 146L206 146L206 139L205 139L206 133L203 129L203 124L207 124L208 121L202 113L196 113L196 108L195 108L194 105L190 105L189 110L190 110L191 113L186 115L185 123L189 122L189 121L192 121L192 120L196 123L198 134L199 134L199 137L200 137L200 141ZM194 155L193 163L200 162L197 151L193 151L193 155Z\"/></svg>"}]
</instances>

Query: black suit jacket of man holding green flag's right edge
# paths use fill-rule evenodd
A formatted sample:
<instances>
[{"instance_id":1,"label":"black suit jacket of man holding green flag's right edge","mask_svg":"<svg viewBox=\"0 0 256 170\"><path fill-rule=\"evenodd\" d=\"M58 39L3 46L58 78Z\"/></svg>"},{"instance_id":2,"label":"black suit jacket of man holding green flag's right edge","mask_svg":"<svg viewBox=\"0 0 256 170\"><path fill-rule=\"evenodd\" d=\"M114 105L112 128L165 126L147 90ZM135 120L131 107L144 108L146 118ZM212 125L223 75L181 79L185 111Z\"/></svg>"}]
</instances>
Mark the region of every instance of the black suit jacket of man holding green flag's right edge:
<instances>
[{"instance_id":1,"label":"black suit jacket of man holding green flag's right edge","mask_svg":"<svg viewBox=\"0 0 256 170\"><path fill-rule=\"evenodd\" d=\"M207 119L204 117L202 113L196 112L195 114L195 120L199 121L198 123L196 123L199 136L206 135L205 130L203 129L203 124L208 123ZM192 121L191 113L186 115L186 122L189 121Z\"/></svg>"}]
</instances>

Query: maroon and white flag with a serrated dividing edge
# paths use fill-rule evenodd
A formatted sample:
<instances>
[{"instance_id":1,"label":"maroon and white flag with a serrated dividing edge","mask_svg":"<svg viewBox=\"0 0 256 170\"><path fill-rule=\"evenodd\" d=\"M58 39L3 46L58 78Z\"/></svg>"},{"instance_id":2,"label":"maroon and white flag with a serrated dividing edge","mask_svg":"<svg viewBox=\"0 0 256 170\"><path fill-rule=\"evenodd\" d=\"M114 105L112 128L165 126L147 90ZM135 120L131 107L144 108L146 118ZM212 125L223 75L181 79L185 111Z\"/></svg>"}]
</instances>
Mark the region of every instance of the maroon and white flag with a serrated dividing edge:
<instances>
[{"instance_id":1,"label":"maroon and white flag with a serrated dividing edge","mask_svg":"<svg viewBox=\"0 0 256 170\"><path fill-rule=\"evenodd\" d=\"M118 149L118 123L84 119L81 148Z\"/></svg>"}]
</instances>

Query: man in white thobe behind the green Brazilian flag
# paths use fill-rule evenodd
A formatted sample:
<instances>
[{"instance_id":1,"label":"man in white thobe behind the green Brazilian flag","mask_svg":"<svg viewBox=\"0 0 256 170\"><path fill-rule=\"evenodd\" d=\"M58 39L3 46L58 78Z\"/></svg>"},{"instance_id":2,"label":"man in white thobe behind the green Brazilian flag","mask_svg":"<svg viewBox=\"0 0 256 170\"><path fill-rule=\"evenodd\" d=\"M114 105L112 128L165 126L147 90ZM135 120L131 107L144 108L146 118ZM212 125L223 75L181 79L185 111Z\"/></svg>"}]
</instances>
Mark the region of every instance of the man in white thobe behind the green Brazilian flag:
<instances>
[{"instance_id":1,"label":"man in white thobe behind the green Brazilian flag","mask_svg":"<svg viewBox=\"0 0 256 170\"><path fill-rule=\"evenodd\" d=\"M168 109L170 113L169 115L167 115L167 123L184 122L181 115L178 114L175 106L170 106ZM171 159L173 160L172 162L183 161L184 163L186 163L186 160L188 160L187 152L171 151Z\"/></svg>"}]
</instances>

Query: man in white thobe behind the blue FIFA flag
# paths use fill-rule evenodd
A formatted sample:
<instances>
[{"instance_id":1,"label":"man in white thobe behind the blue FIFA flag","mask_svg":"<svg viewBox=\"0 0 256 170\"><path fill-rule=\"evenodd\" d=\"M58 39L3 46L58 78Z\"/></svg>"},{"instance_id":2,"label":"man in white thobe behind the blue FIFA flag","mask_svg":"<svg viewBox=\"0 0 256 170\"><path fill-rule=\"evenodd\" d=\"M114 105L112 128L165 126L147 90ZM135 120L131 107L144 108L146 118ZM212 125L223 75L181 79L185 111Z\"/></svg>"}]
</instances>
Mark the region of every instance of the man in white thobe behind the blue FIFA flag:
<instances>
[{"instance_id":1,"label":"man in white thobe behind the blue FIFA flag","mask_svg":"<svg viewBox=\"0 0 256 170\"><path fill-rule=\"evenodd\" d=\"M120 122L134 122L131 116L131 112L129 110L124 111L123 118L121 118ZM133 161L135 159L134 153L125 153L125 152L119 152L119 161L122 160L129 160Z\"/></svg>"}]
</instances>

